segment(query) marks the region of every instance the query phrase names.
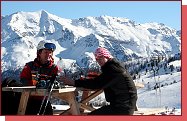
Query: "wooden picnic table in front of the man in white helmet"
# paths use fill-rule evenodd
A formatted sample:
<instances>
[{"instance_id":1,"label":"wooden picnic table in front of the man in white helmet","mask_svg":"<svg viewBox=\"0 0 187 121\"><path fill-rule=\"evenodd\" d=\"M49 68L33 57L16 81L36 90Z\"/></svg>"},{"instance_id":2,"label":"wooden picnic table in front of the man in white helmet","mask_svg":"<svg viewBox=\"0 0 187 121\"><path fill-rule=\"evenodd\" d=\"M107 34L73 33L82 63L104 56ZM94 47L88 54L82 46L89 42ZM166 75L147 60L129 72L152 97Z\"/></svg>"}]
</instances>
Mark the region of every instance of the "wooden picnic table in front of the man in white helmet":
<instances>
[{"instance_id":1,"label":"wooden picnic table in front of the man in white helmet","mask_svg":"<svg viewBox=\"0 0 187 121\"><path fill-rule=\"evenodd\" d=\"M27 107L27 102L30 95L33 96L44 96L45 93L48 93L46 89L36 89L35 86L24 86L24 87L3 87L2 91L13 91L21 92L21 99L18 108L18 115L24 115ZM79 105L76 101L75 87L66 87L62 89L53 89L52 96L58 97L62 100L65 100L69 103L70 109L68 109L68 114L79 115Z\"/></svg>"}]
</instances>

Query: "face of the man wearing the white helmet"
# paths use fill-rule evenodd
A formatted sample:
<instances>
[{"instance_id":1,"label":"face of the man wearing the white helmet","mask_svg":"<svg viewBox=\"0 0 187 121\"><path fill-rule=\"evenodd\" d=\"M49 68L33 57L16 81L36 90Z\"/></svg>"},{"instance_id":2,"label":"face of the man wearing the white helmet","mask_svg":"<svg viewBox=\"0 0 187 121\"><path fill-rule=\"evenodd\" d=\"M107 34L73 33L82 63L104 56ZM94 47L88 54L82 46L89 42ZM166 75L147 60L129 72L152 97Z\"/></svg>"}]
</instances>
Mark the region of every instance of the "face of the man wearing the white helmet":
<instances>
[{"instance_id":1,"label":"face of the man wearing the white helmet","mask_svg":"<svg viewBox=\"0 0 187 121\"><path fill-rule=\"evenodd\" d=\"M46 63L47 61L49 61L51 59L52 55L53 55L52 50L43 49L40 53L41 63Z\"/></svg>"}]
</instances>

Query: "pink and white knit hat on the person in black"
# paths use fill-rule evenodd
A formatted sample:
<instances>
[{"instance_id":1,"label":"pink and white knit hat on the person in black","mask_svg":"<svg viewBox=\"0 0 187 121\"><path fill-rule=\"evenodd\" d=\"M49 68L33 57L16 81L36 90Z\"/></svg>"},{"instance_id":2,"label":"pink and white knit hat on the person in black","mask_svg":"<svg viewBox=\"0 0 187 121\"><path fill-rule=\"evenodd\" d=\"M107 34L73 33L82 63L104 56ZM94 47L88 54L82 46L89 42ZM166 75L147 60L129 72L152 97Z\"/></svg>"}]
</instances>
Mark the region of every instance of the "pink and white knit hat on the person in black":
<instances>
[{"instance_id":1,"label":"pink and white knit hat on the person in black","mask_svg":"<svg viewBox=\"0 0 187 121\"><path fill-rule=\"evenodd\" d=\"M100 58L102 56L104 56L105 58L113 58L113 56L110 54L110 52L106 49L106 48L97 48L96 51L95 51L95 58Z\"/></svg>"}]
</instances>

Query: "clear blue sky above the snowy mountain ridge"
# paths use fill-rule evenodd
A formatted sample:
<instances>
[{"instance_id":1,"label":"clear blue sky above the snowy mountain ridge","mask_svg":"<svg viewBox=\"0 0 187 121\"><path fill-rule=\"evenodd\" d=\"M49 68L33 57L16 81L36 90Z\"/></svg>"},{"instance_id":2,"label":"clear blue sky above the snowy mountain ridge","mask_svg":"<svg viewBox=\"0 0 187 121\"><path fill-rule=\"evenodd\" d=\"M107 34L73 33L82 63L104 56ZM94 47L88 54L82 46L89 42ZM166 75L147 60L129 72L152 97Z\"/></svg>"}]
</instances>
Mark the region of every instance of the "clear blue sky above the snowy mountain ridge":
<instances>
[{"instance_id":1,"label":"clear blue sky above the snowy mountain ridge","mask_svg":"<svg viewBox=\"0 0 187 121\"><path fill-rule=\"evenodd\" d=\"M1 15L17 11L47 12L67 19L108 15L124 17L136 23L158 22L181 29L180 1L3 1Z\"/></svg>"}]
</instances>

